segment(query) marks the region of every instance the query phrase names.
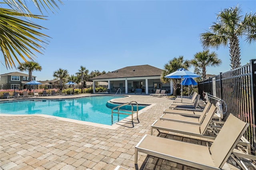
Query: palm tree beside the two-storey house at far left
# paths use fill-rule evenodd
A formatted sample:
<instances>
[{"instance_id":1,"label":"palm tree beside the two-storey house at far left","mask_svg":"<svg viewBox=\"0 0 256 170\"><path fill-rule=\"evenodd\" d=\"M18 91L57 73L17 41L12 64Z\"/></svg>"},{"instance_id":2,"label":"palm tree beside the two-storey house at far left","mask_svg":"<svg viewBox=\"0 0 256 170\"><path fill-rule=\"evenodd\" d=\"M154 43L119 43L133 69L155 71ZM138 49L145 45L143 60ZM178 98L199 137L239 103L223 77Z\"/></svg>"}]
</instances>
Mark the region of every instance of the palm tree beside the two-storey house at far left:
<instances>
[{"instance_id":1,"label":"palm tree beside the two-storey house at far left","mask_svg":"<svg viewBox=\"0 0 256 170\"><path fill-rule=\"evenodd\" d=\"M41 71L42 67L34 61L28 61L25 63L20 63L20 65L18 66L18 70L28 71L28 81L32 81L32 72Z\"/></svg>"}]
</instances>

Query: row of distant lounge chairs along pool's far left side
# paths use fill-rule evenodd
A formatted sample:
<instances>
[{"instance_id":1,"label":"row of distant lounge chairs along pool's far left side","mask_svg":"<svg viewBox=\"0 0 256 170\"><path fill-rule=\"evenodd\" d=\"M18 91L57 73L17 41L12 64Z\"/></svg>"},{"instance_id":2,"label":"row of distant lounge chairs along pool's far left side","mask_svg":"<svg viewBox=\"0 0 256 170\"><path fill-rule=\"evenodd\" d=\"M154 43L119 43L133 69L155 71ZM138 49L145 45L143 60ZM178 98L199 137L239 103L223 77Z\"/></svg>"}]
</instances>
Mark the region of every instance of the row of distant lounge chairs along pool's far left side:
<instances>
[{"instance_id":1,"label":"row of distant lounge chairs along pool's far left side","mask_svg":"<svg viewBox=\"0 0 256 170\"><path fill-rule=\"evenodd\" d=\"M38 92L34 92L34 95L28 95L27 91L23 91L23 95L20 95L19 92L14 92L12 96L10 96L10 93L4 93L2 99L33 97L33 96L49 96L49 95L66 95L66 93L62 93L62 90L59 90L59 93L56 93L55 90L52 90L51 94L48 94L47 91L44 90L42 91L41 95L39 95Z\"/></svg>"}]
</instances>

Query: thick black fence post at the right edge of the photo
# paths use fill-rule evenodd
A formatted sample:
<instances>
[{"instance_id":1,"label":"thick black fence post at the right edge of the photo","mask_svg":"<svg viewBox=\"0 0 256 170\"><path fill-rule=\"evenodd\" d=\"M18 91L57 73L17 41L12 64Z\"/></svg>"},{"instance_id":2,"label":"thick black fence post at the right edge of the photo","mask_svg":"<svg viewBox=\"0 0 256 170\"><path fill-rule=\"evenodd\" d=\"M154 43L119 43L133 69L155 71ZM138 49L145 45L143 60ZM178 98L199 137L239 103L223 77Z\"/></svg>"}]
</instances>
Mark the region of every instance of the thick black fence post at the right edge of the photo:
<instances>
[{"instance_id":1,"label":"thick black fence post at the right edge of the photo","mask_svg":"<svg viewBox=\"0 0 256 170\"><path fill-rule=\"evenodd\" d=\"M253 126L253 143L254 147L256 146L256 125L255 125L255 118L256 118L256 59L250 59L250 68L252 69L252 73L250 75L251 79L251 97L252 97L252 126Z\"/></svg>"}]
</instances>

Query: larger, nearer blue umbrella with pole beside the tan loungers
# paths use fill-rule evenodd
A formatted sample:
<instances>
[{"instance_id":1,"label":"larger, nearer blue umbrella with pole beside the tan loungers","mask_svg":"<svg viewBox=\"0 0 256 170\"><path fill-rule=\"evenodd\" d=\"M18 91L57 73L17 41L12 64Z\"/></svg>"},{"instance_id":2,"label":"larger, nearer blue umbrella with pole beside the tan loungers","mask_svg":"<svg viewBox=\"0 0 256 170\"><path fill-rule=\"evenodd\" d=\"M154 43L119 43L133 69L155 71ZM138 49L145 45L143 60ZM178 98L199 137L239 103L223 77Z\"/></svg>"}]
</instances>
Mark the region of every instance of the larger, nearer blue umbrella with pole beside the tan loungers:
<instances>
[{"instance_id":1,"label":"larger, nearer blue umbrella with pole beside the tan loungers","mask_svg":"<svg viewBox=\"0 0 256 170\"><path fill-rule=\"evenodd\" d=\"M184 79L184 78L195 78L195 77L200 77L200 75L196 74L196 73L192 73L191 71L188 71L184 68L179 68L177 69L177 71L174 71L173 73L170 73L166 76L164 76L166 78L170 78L170 79ZM182 102L182 84L181 84L181 102Z\"/></svg>"}]
</instances>

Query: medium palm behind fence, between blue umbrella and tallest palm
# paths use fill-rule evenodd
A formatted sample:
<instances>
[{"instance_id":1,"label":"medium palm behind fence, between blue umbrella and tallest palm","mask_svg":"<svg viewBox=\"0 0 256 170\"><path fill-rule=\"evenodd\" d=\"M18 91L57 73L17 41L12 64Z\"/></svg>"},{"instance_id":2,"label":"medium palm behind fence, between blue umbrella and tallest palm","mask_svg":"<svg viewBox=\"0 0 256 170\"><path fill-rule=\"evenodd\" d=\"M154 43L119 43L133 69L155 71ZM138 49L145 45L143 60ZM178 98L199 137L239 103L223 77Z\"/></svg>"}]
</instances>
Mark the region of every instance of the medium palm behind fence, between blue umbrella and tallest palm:
<instances>
[{"instance_id":1,"label":"medium palm behind fence, between blue umbrella and tallest palm","mask_svg":"<svg viewBox=\"0 0 256 170\"><path fill-rule=\"evenodd\" d=\"M194 55L194 58L190 61L190 63L197 68L202 69L202 78L206 79L206 67L216 67L220 66L222 61L218 59L218 55L215 52L211 52L209 50L205 50L202 52L198 52Z\"/></svg>"}]
</instances>

